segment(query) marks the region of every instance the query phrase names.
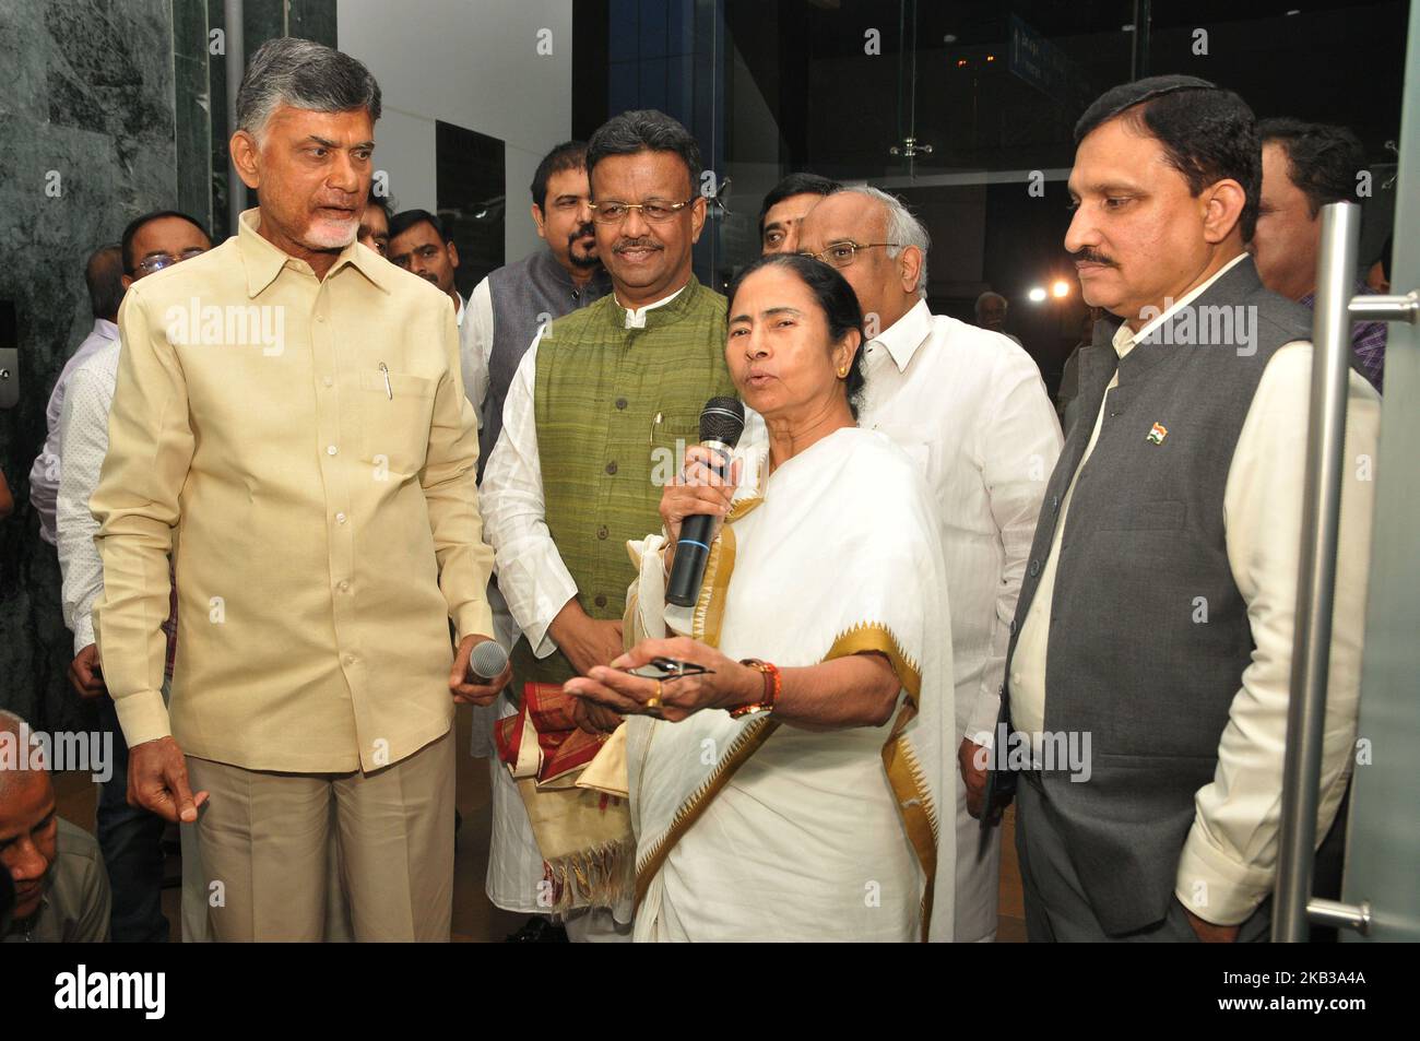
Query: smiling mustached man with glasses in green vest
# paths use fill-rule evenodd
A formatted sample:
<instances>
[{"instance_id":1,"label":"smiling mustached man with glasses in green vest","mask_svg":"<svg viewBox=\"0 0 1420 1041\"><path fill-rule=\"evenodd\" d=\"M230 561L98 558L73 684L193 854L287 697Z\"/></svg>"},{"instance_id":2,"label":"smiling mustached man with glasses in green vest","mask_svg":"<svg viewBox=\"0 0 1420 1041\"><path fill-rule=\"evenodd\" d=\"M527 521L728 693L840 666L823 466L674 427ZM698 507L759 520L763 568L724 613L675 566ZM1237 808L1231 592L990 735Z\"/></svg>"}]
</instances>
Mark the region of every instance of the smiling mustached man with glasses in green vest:
<instances>
[{"instance_id":1,"label":"smiling mustached man with glasses in green vest","mask_svg":"<svg viewBox=\"0 0 1420 1041\"><path fill-rule=\"evenodd\" d=\"M657 472L679 472L706 399L734 395L726 300L690 271L706 222L694 138L663 112L623 112L592 135L586 175L613 293L538 332L479 493L498 588L525 638L513 653L515 692L530 680L561 685L622 653L635 578L626 541L660 530ZM596 713L581 719L591 727L621 723L585 712ZM609 876L623 875L633 846L588 821L595 810L558 801L577 792L528 780L518 788L532 822L528 886L545 893L538 906L561 912L572 939L629 939L629 893ZM521 821L494 821L510 827Z\"/></svg>"}]
</instances>

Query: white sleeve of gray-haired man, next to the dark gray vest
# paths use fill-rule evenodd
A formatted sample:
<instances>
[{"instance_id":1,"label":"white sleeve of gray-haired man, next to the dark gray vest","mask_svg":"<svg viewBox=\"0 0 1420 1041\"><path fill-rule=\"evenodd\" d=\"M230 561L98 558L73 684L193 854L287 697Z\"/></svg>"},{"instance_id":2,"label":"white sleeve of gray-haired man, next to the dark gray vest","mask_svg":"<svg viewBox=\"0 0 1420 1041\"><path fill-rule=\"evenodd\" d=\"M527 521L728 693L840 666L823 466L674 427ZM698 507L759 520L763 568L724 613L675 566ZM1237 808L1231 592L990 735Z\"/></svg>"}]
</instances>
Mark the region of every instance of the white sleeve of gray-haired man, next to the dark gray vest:
<instances>
[{"instance_id":1,"label":"white sleeve of gray-haired man, next to the dark gray vest","mask_svg":"<svg viewBox=\"0 0 1420 1041\"><path fill-rule=\"evenodd\" d=\"M981 686L973 704L963 706L967 713L963 737L987 747L1001 710L1011 619L1035 538L1035 521L1062 443L1055 408L1045 393L1039 369L1025 351L1017 348L1004 355L994 386L1000 396L984 410L990 422L977 432L977 445L991 517L1001 533L1001 581L995 589L991 648Z\"/></svg>"}]
</instances>

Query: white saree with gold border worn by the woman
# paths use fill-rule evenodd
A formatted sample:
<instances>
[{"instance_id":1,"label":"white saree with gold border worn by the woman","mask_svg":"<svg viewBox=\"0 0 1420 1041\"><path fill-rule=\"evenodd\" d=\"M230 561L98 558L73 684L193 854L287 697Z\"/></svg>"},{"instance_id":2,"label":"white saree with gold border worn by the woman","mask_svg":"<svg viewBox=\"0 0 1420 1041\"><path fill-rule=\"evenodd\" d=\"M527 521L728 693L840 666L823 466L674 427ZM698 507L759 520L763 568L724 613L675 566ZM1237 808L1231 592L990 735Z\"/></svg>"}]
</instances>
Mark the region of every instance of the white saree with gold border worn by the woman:
<instances>
[{"instance_id":1,"label":"white saree with gold border worn by the woman","mask_svg":"<svg viewBox=\"0 0 1420 1041\"><path fill-rule=\"evenodd\" d=\"M741 484L699 604L665 604L652 535L628 619L780 667L880 652L902 680L882 727L772 716L628 719L636 940L950 940L951 631L930 493L883 435L841 429Z\"/></svg>"}]
</instances>

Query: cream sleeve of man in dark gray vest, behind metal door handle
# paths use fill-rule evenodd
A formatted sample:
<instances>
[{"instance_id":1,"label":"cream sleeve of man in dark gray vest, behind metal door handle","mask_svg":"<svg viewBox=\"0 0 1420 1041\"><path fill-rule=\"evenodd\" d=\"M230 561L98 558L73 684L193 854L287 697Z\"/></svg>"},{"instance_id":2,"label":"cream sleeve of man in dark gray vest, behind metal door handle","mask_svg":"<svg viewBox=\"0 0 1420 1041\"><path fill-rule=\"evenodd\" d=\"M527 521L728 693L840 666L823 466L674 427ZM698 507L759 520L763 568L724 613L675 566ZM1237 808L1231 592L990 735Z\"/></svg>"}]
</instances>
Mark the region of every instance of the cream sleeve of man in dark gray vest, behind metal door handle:
<instances>
[{"instance_id":1,"label":"cream sleeve of man in dark gray vest, behind metal door handle","mask_svg":"<svg viewBox=\"0 0 1420 1041\"><path fill-rule=\"evenodd\" d=\"M1174 890L1186 908L1216 925L1247 919L1277 876L1311 361L1311 344L1294 342L1268 362L1224 491L1228 562L1255 646L1218 743L1213 783L1196 798ZM1318 842L1350 777L1380 427L1380 398L1358 374L1349 381Z\"/></svg>"}]
</instances>

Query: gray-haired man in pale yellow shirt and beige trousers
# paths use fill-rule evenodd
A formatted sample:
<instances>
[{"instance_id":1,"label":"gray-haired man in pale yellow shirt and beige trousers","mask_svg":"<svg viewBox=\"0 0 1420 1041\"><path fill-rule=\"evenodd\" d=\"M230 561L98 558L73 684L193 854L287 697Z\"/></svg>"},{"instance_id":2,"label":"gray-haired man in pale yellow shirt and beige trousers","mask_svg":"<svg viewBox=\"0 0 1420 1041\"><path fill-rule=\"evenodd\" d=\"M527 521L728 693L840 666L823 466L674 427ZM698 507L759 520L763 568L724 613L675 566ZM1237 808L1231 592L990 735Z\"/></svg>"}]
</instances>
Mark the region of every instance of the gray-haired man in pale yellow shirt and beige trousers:
<instances>
[{"instance_id":1,"label":"gray-haired man in pale yellow shirt and beige trousers","mask_svg":"<svg viewBox=\"0 0 1420 1041\"><path fill-rule=\"evenodd\" d=\"M469 682L493 554L453 308L355 241L378 118L358 61L261 47L231 138L258 207L119 314L99 655L129 798L185 822L206 804L222 940L320 939L332 841L356 939L446 940L453 704L507 682Z\"/></svg>"}]
</instances>

